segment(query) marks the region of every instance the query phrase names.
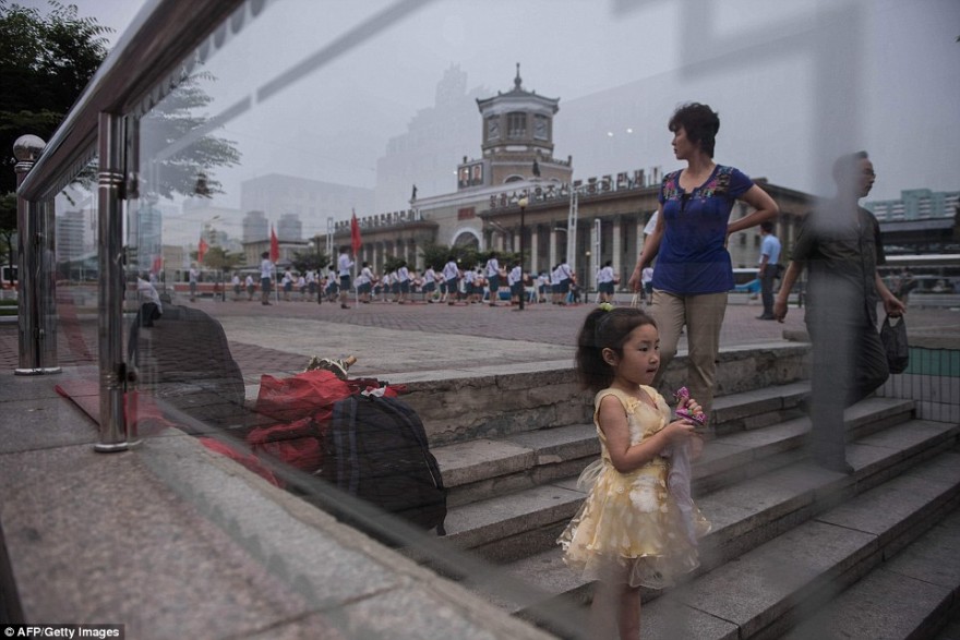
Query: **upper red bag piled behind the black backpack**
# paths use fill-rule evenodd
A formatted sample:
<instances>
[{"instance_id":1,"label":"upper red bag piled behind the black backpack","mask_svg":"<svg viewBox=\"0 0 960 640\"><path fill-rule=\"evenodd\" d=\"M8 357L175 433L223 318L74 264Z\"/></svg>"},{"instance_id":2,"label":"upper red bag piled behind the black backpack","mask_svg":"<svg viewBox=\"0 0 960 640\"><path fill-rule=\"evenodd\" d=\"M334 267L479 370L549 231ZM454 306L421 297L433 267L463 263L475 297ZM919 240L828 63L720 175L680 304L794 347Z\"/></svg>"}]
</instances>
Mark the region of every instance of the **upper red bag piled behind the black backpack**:
<instances>
[{"instance_id":1,"label":"upper red bag piled behind the black backpack","mask_svg":"<svg viewBox=\"0 0 960 640\"><path fill-rule=\"evenodd\" d=\"M260 377L255 410L281 422L295 422L312 416L317 409L332 407L350 394L347 383L322 369L287 378L264 374Z\"/></svg>"}]
</instances>

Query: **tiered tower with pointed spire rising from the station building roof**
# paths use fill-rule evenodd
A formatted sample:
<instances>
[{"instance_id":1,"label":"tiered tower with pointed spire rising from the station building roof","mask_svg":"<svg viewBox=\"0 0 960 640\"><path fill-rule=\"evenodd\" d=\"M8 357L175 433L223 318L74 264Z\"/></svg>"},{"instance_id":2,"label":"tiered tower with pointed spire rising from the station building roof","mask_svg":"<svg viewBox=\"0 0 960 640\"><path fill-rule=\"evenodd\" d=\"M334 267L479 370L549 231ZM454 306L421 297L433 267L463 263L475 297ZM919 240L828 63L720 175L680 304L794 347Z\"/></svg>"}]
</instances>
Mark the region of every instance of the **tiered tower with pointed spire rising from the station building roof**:
<instances>
[{"instance_id":1,"label":"tiered tower with pointed spire rising from the station building roof","mask_svg":"<svg viewBox=\"0 0 960 640\"><path fill-rule=\"evenodd\" d=\"M496 186L521 180L569 182L569 160L553 158L553 116L560 98L528 92L520 79L520 64L514 88L507 93L477 99L482 122L483 157L457 167L458 189Z\"/></svg>"}]
</instances>

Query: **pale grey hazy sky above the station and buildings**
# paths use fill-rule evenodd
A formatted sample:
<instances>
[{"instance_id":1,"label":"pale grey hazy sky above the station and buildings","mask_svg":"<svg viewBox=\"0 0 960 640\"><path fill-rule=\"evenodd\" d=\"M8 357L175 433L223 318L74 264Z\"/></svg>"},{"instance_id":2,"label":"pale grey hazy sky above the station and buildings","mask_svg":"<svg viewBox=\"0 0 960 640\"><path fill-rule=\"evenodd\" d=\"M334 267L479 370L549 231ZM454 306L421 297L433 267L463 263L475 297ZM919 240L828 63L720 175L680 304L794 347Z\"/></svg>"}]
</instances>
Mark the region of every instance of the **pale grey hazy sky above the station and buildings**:
<instances>
[{"instance_id":1,"label":"pale grey hazy sky above the station and buildings","mask_svg":"<svg viewBox=\"0 0 960 640\"><path fill-rule=\"evenodd\" d=\"M118 31L143 5L72 2ZM391 7L403 15L337 44ZM220 176L220 204L237 206L239 181L272 170L372 188L387 141L433 106L452 63L468 89L506 92L520 62L525 88L560 97L555 156L573 155L578 177L676 168L665 122L696 100L720 112L717 160L751 176L824 193L825 158L866 148L871 200L955 191L957 36L957 0L274 0L208 60L211 114L255 105L216 132L243 153ZM285 72L295 80L261 99ZM468 125L477 142L463 154L479 157L479 124Z\"/></svg>"}]
</instances>

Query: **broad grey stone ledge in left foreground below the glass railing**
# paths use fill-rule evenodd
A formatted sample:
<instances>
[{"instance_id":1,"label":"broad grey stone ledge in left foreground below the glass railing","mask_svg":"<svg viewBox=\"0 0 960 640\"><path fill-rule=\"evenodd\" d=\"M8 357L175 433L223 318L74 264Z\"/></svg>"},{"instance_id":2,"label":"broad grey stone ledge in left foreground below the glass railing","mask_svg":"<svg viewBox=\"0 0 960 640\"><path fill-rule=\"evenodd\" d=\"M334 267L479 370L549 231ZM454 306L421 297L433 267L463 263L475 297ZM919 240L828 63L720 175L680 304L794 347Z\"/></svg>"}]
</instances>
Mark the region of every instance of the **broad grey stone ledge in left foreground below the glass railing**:
<instances>
[{"instance_id":1,"label":"broad grey stone ledge in left foreground below the glass railing","mask_svg":"<svg viewBox=\"0 0 960 640\"><path fill-rule=\"evenodd\" d=\"M129 638L548 637L192 437L0 459L25 621L118 623Z\"/></svg>"}]
</instances>

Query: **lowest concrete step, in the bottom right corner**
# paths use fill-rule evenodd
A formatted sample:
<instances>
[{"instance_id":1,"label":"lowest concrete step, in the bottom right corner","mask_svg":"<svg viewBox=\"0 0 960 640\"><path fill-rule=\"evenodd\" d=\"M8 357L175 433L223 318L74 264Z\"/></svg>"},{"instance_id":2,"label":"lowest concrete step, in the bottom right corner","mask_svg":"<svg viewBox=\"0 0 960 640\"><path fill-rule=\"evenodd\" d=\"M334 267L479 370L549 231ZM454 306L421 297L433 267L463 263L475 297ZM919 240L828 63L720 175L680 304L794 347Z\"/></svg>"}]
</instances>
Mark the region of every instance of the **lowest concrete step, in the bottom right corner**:
<instances>
[{"instance_id":1,"label":"lowest concrete step, in the bottom right corner","mask_svg":"<svg viewBox=\"0 0 960 640\"><path fill-rule=\"evenodd\" d=\"M958 609L960 510L955 510L907 548L796 628L784 640L931 638ZM946 630L945 630L946 631ZM958 638L960 635L943 636ZM939 636L937 637L939 638Z\"/></svg>"}]
</instances>

